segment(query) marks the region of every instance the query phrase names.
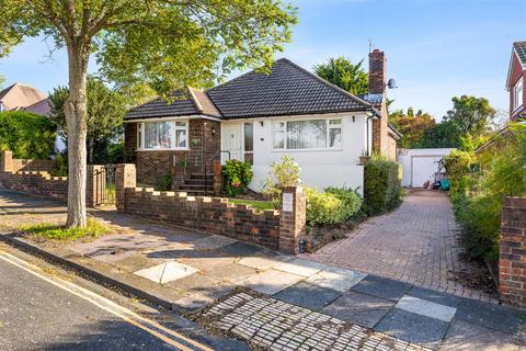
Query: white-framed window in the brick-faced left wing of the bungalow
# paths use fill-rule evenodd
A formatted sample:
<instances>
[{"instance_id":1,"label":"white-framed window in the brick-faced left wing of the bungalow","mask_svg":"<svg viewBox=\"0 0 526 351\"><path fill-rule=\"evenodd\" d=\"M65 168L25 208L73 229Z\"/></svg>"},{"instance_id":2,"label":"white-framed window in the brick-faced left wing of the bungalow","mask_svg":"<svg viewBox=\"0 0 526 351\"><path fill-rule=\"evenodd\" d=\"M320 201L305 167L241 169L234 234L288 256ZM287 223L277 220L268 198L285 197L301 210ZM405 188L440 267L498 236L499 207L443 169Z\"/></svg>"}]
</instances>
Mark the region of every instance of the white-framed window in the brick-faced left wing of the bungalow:
<instances>
[{"instance_id":1,"label":"white-framed window in the brick-faced left wing of the bungalow","mask_svg":"<svg viewBox=\"0 0 526 351\"><path fill-rule=\"evenodd\" d=\"M186 149L188 122L156 121L137 125L137 146L142 150Z\"/></svg>"}]
</instances>

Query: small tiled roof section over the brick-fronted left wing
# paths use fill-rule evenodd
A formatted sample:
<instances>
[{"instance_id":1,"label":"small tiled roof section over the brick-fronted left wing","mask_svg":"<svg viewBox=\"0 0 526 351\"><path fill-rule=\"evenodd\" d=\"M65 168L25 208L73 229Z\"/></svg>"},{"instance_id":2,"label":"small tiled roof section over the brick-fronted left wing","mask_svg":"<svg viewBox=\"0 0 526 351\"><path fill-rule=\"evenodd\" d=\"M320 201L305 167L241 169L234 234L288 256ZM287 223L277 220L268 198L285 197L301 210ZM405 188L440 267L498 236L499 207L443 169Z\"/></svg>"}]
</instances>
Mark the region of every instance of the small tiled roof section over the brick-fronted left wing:
<instances>
[{"instance_id":1,"label":"small tiled roof section over the brick-fronted left wing","mask_svg":"<svg viewBox=\"0 0 526 351\"><path fill-rule=\"evenodd\" d=\"M219 116L214 104L208 101L204 92L193 88L186 88L170 93L167 99L157 98L156 100L132 109L125 118L187 116L194 114Z\"/></svg>"}]
</instances>

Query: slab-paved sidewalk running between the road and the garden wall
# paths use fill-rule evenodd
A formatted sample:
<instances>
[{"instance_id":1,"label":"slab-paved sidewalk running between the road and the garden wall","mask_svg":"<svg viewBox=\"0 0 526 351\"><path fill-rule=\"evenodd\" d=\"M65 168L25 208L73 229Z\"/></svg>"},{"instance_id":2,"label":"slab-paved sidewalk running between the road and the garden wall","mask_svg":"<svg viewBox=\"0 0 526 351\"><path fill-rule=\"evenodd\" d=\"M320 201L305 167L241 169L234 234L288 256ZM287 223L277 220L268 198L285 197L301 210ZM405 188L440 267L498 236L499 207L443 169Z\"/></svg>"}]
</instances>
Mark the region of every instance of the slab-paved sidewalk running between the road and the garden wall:
<instances>
[{"instance_id":1,"label":"slab-paved sidewalk running between the road and the garden wall","mask_svg":"<svg viewBox=\"0 0 526 351\"><path fill-rule=\"evenodd\" d=\"M60 206L0 191L0 224L60 219ZM69 253L62 256L82 258L90 270L102 270L99 274L118 274L134 288L162 293L175 310L204 307L197 320L205 328L255 347L518 350L524 344L524 315L513 307L115 212L92 214L114 226L116 234L68 244ZM58 252L54 244L32 245ZM345 265L344 260L338 263ZM328 320L338 327L328 330ZM297 328L301 322L310 330Z\"/></svg>"}]
</instances>

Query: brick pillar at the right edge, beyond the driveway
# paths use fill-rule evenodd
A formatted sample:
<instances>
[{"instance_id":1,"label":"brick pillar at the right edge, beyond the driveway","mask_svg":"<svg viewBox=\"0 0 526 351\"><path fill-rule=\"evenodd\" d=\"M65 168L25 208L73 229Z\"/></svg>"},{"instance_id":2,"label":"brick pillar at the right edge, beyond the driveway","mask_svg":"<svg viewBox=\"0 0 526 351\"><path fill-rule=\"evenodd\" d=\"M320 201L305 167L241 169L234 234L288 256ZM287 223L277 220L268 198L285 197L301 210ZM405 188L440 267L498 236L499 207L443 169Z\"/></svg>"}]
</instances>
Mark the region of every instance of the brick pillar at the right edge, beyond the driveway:
<instances>
[{"instance_id":1,"label":"brick pillar at the right edge, beyond the driveway","mask_svg":"<svg viewBox=\"0 0 526 351\"><path fill-rule=\"evenodd\" d=\"M502 206L499 294L526 306L526 197L506 197Z\"/></svg>"}]
</instances>

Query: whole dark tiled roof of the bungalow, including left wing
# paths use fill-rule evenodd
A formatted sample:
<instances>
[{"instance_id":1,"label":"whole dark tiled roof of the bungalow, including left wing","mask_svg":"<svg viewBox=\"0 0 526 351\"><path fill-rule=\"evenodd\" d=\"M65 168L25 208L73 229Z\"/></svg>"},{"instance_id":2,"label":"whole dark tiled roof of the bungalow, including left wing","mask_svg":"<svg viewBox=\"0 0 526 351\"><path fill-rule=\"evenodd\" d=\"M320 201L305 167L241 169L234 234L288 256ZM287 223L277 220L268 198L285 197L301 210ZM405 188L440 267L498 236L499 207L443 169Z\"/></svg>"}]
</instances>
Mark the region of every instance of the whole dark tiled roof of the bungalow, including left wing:
<instances>
[{"instance_id":1,"label":"whole dark tiled roof of the bungalow, including left wing","mask_svg":"<svg viewBox=\"0 0 526 351\"><path fill-rule=\"evenodd\" d=\"M190 89L179 94L183 99L171 104L157 99L129 111L126 118L206 114L229 120L373 111L368 102L285 58L275 61L270 75L250 71L206 92Z\"/></svg>"}]
</instances>

